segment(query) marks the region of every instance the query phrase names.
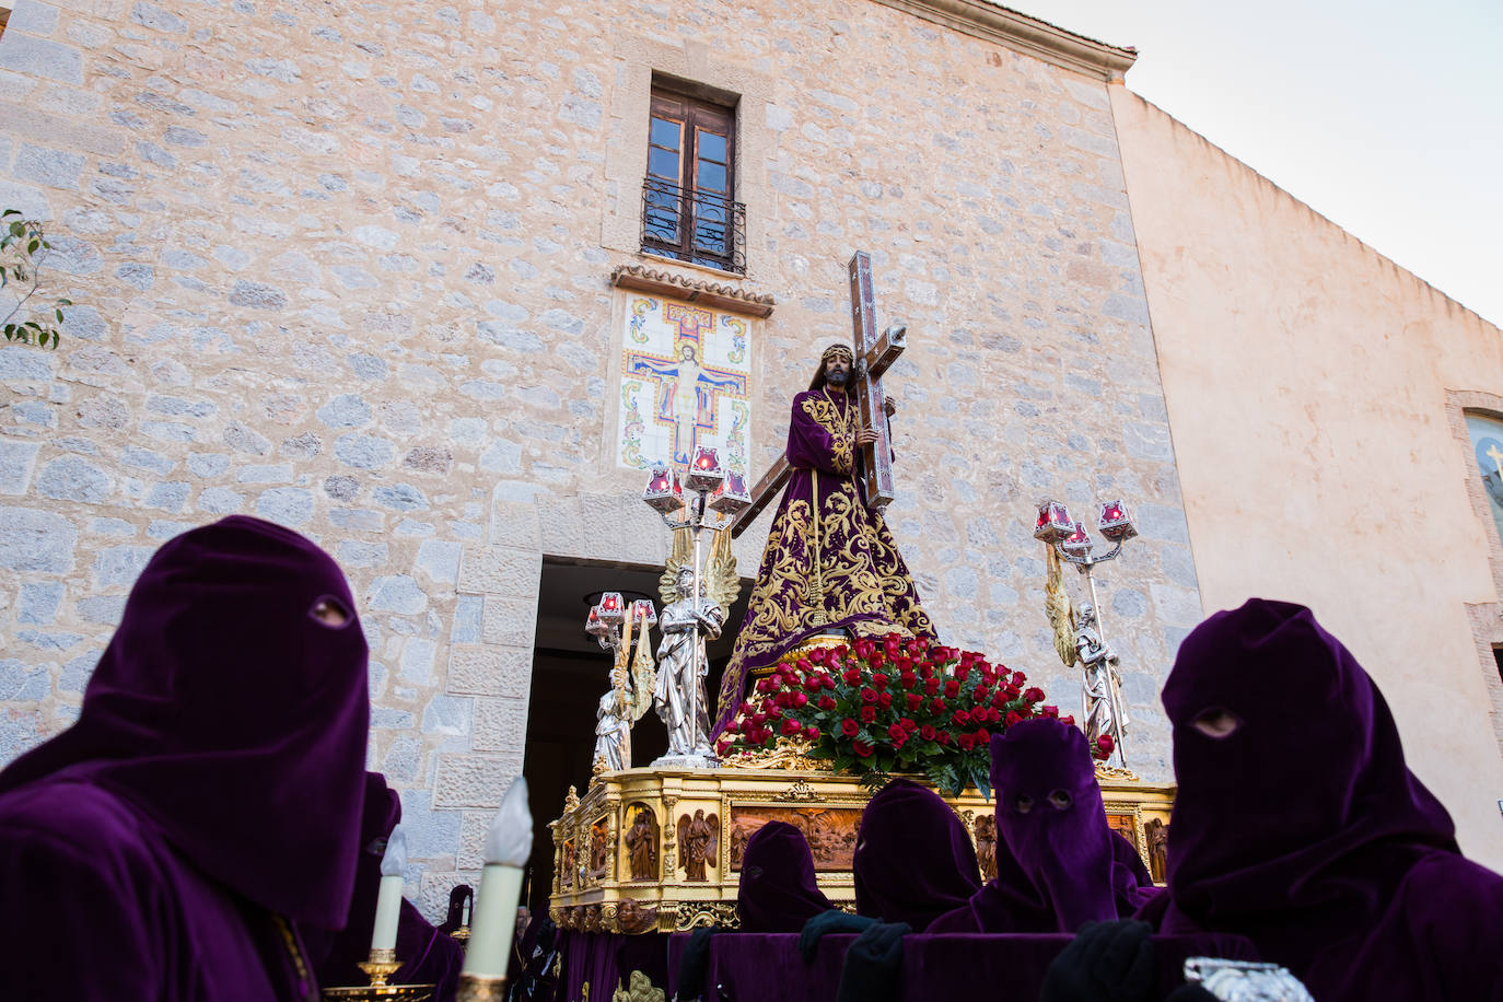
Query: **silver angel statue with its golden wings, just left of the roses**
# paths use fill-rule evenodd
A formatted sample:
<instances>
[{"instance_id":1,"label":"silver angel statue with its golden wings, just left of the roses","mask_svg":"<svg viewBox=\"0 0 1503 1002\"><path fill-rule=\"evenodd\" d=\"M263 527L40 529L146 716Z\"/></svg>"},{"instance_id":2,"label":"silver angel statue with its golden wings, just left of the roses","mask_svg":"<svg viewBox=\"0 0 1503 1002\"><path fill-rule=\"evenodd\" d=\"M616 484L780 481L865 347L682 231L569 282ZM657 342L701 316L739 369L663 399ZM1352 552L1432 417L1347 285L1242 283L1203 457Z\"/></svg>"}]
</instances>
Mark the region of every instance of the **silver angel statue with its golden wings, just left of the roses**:
<instances>
[{"instance_id":1,"label":"silver angel statue with its golden wings, just left of the roses","mask_svg":"<svg viewBox=\"0 0 1503 1002\"><path fill-rule=\"evenodd\" d=\"M709 658L705 653L705 643L720 635L726 608L735 601L739 581L735 577L729 533L717 533L703 574L694 574L690 553L687 530L682 536L675 533L673 553L663 574L664 605L658 616L663 640L657 650L658 673L652 690L652 708L667 729L664 757L700 759L712 765L709 703L705 694ZM699 578L697 595L696 578Z\"/></svg>"}]
</instances>

